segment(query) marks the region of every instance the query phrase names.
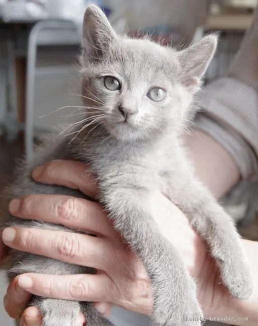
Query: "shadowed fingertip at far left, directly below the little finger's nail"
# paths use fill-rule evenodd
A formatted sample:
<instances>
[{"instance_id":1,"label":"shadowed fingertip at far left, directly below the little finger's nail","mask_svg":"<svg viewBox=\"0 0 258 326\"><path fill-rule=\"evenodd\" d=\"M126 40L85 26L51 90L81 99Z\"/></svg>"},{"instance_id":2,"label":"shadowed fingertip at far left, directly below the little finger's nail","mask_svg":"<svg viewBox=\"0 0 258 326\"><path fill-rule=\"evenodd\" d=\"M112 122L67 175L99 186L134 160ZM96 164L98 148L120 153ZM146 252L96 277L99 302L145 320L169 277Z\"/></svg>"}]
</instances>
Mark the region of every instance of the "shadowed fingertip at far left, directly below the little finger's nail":
<instances>
[{"instance_id":1,"label":"shadowed fingertip at far left, directly below the little finger's nail","mask_svg":"<svg viewBox=\"0 0 258 326\"><path fill-rule=\"evenodd\" d=\"M18 284L16 277L9 285L7 294L4 299L4 306L11 318L19 319L31 298L31 293L28 293Z\"/></svg>"}]
</instances>

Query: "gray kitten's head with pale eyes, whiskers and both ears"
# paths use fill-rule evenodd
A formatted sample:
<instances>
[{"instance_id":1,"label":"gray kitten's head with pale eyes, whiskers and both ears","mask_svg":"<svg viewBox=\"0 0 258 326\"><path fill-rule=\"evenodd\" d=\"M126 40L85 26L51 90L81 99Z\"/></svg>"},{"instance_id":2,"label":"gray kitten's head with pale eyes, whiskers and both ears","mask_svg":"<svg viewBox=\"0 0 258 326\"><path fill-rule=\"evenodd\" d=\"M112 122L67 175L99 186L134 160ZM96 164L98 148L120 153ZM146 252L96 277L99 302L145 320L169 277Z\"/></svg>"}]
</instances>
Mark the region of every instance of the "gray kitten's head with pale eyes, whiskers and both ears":
<instances>
[{"instance_id":1,"label":"gray kitten's head with pale eyes, whiskers and both ears","mask_svg":"<svg viewBox=\"0 0 258 326\"><path fill-rule=\"evenodd\" d=\"M150 40L118 36L91 5L83 25L82 95L88 121L124 141L180 132L217 39L176 51Z\"/></svg>"}]
</instances>

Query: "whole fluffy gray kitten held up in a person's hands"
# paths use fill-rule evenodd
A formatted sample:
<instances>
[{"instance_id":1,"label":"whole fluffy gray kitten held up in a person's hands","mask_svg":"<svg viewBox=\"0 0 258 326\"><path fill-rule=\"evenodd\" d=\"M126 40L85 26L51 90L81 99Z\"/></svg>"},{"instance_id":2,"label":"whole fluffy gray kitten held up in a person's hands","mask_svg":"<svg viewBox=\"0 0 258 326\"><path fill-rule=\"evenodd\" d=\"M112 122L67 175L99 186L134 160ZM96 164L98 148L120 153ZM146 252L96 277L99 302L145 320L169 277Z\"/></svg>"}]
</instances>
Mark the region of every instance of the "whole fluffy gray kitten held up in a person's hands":
<instances>
[{"instance_id":1,"label":"whole fluffy gray kitten held up in a person's hands","mask_svg":"<svg viewBox=\"0 0 258 326\"><path fill-rule=\"evenodd\" d=\"M208 36L186 50L176 51L149 40L121 37L100 9L89 6L81 59L87 120L83 127L75 125L75 139L72 135L46 142L8 190L9 200L35 193L85 198L65 187L37 184L31 172L51 159L88 163L98 176L100 203L145 264L154 293L152 320L157 326L200 325L202 316L195 282L176 248L159 231L159 217L153 216L151 204L157 191L176 204L207 241L229 291L245 299L252 290L234 224L195 178L180 139L193 94L199 89L216 43L215 36ZM7 219L5 225L72 231L10 215ZM24 272L94 272L15 250L10 250L10 255L10 278ZM34 297L31 304L41 309L44 326L71 326L80 310L87 316L88 326L111 324L92 303Z\"/></svg>"}]
</instances>

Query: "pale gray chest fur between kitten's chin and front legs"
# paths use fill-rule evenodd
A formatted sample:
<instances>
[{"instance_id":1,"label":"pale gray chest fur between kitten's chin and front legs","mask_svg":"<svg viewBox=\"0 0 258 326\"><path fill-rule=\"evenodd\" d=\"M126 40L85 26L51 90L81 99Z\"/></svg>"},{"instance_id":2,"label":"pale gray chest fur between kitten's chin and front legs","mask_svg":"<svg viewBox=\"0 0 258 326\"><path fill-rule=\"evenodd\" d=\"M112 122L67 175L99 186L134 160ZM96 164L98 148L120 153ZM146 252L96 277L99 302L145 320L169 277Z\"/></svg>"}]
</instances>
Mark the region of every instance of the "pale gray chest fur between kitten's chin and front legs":
<instances>
[{"instance_id":1,"label":"pale gray chest fur between kitten's chin and front legs","mask_svg":"<svg viewBox=\"0 0 258 326\"><path fill-rule=\"evenodd\" d=\"M101 182L166 193L167 176L175 174L180 147L172 137L136 143L116 139L85 142L77 157L88 162Z\"/></svg>"}]
</instances>

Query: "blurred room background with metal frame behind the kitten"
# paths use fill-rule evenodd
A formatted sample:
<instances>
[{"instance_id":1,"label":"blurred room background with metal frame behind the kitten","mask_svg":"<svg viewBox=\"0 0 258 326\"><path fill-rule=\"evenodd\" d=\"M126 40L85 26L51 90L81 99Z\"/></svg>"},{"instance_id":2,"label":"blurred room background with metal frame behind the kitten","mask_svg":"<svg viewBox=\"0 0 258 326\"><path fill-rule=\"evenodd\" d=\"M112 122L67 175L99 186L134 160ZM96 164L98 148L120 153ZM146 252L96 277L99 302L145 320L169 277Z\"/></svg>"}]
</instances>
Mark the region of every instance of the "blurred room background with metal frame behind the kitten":
<instances>
[{"instance_id":1,"label":"blurred room background with metal frame behind the kitten","mask_svg":"<svg viewBox=\"0 0 258 326\"><path fill-rule=\"evenodd\" d=\"M77 57L87 0L0 0L0 193L15 161L33 155L33 144L80 105ZM91 1L92 3L93 1ZM257 0L103 0L117 31L169 45L196 42L220 32L219 50L205 83L225 75ZM60 109L62 108L62 109ZM69 120L70 121L70 120ZM246 238L258 240L256 183L242 183L225 199ZM0 275L0 302L6 290ZM0 324L13 326L0 303ZM211 323L215 325L215 323Z\"/></svg>"}]
</instances>

